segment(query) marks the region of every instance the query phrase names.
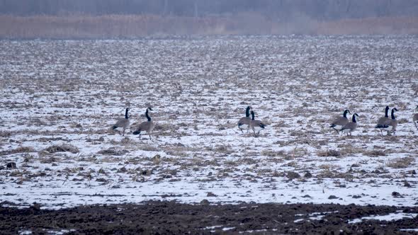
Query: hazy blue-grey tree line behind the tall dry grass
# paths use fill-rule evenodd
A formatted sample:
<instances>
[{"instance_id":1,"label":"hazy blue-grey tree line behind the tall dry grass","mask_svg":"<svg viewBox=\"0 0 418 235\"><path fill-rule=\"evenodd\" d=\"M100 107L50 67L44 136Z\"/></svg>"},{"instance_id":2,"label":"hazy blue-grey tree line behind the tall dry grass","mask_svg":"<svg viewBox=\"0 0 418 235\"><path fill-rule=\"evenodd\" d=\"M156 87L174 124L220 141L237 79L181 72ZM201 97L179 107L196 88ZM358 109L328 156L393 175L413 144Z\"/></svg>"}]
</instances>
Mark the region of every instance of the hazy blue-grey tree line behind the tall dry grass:
<instances>
[{"instance_id":1,"label":"hazy blue-grey tree line behind the tall dry grass","mask_svg":"<svg viewBox=\"0 0 418 235\"><path fill-rule=\"evenodd\" d=\"M69 16L108 14L227 16L260 13L273 21L307 16L318 20L418 16L418 0L0 0L0 14Z\"/></svg>"}]
</instances>

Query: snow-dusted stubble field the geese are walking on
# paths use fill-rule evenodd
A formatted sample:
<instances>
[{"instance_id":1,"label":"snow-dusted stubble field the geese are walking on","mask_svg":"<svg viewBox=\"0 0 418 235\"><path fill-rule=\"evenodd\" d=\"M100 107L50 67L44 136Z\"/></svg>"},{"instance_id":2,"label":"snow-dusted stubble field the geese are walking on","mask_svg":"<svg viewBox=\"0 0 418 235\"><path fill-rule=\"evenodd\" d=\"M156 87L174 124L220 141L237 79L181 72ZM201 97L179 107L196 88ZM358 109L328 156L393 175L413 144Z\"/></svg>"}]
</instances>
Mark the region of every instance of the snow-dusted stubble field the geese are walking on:
<instances>
[{"instance_id":1,"label":"snow-dusted stubble field the geese are walking on","mask_svg":"<svg viewBox=\"0 0 418 235\"><path fill-rule=\"evenodd\" d=\"M418 203L417 37L1 40L0 57L0 202ZM247 105L259 137L237 128ZM346 108L351 137L329 128Z\"/></svg>"}]
</instances>

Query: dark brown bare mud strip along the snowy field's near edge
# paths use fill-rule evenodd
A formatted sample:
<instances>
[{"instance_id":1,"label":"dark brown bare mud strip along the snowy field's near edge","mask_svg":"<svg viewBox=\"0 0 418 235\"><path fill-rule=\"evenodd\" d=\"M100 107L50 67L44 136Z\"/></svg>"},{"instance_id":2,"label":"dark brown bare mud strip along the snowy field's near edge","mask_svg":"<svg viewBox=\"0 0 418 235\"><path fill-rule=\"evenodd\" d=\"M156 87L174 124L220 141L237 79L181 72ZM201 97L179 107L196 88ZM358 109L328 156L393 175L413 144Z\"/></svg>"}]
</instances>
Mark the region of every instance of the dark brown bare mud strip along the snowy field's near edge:
<instances>
[{"instance_id":1,"label":"dark brown bare mud strip along the snowy field's near edge","mask_svg":"<svg viewBox=\"0 0 418 235\"><path fill-rule=\"evenodd\" d=\"M417 234L418 217L352 219L418 207L334 204L199 205L174 201L43 210L0 206L0 234Z\"/></svg>"}]
</instances>

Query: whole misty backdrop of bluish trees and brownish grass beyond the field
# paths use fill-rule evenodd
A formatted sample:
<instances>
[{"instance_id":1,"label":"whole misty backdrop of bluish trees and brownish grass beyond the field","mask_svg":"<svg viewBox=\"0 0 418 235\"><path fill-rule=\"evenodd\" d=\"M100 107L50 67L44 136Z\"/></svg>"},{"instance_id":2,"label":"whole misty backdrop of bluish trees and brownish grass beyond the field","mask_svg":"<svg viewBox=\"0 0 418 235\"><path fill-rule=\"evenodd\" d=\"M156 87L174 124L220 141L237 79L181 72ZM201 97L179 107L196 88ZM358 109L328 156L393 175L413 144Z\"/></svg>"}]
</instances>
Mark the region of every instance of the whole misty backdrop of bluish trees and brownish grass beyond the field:
<instances>
[{"instance_id":1,"label":"whole misty backdrop of bluish trees and brownish grass beyond the field","mask_svg":"<svg viewBox=\"0 0 418 235\"><path fill-rule=\"evenodd\" d=\"M417 34L418 0L0 0L0 38Z\"/></svg>"}]
</instances>

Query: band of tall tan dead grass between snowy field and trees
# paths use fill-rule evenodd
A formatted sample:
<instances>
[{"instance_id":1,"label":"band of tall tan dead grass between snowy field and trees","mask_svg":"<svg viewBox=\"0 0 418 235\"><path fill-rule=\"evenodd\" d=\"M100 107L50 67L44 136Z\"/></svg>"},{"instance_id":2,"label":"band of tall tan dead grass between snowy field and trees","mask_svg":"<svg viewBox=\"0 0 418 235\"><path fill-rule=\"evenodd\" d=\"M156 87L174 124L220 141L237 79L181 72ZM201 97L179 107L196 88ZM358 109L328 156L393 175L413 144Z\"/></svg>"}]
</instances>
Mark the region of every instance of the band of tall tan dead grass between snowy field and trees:
<instances>
[{"instance_id":1,"label":"band of tall tan dead grass between snowy field and trees","mask_svg":"<svg viewBox=\"0 0 418 235\"><path fill-rule=\"evenodd\" d=\"M418 17L280 22L259 13L179 17L157 15L0 16L0 38L101 39L169 35L373 35L417 34Z\"/></svg>"}]
</instances>

